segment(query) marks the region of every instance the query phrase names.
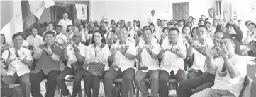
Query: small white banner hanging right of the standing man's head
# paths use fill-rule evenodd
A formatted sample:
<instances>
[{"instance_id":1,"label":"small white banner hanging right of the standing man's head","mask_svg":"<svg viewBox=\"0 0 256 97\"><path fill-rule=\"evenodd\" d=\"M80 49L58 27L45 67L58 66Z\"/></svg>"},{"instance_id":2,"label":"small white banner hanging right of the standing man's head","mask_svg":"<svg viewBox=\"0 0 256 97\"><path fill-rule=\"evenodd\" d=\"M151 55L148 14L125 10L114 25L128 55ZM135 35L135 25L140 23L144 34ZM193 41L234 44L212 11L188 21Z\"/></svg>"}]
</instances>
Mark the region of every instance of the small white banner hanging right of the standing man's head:
<instances>
[{"instance_id":1,"label":"small white banner hanging right of the standing man's head","mask_svg":"<svg viewBox=\"0 0 256 97\"><path fill-rule=\"evenodd\" d=\"M87 5L84 4L74 4L77 9L77 19L86 20L87 19Z\"/></svg>"}]
</instances>

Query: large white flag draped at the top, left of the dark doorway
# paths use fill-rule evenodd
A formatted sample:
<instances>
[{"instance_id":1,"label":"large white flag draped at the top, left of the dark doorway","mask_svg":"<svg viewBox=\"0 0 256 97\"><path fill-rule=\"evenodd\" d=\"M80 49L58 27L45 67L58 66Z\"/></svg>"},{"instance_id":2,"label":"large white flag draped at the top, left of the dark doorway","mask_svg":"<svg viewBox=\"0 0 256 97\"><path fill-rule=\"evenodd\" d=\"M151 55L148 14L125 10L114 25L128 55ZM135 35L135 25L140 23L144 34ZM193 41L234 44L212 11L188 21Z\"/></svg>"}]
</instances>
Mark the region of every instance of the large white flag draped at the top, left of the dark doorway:
<instances>
[{"instance_id":1,"label":"large white flag draped at the top, left of the dark doorway","mask_svg":"<svg viewBox=\"0 0 256 97\"><path fill-rule=\"evenodd\" d=\"M31 13L33 13L33 15L35 15L38 19L41 18L43 10L55 5L55 2L52 0L29 0L28 2Z\"/></svg>"}]
</instances>

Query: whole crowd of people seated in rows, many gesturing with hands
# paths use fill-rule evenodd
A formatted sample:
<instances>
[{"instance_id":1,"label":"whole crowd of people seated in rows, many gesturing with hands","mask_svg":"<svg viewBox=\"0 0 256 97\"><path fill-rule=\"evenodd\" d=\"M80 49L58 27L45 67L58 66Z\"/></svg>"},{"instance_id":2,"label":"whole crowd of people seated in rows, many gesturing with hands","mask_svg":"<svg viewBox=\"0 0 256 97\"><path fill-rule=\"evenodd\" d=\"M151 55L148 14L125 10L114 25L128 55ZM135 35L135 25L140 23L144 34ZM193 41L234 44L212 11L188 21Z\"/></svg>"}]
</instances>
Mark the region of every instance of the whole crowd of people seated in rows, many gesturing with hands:
<instances>
[{"instance_id":1,"label":"whole crowd of people seated in rows, many gesturing with hands","mask_svg":"<svg viewBox=\"0 0 256 97\"><path fill-rule=\"evenodd\" d=\"M253 56L240 45L256 46L254 22L219 18L211 22L205 15L198 22L192 16L168 21L151 13L144 27L138 20L75 26L63 13L56 27L48 23L43 36L33 28L29 36L14 34L10 43L1 34L1 96L42 97L43 79L46 97L55 95L56 86L63 96L77 96L82 79L88 97L99 96L101 79L106 97L127 96L133 81L143 97L167 97L168 90L176 87L168 84L169 79L179 83L178 97L239 96L247 74L243 56ZM104 72L91 73L90 65L103 65ZM65 84L67 76L73 76L72 94ZM113 80L118 78L123 82L115 92Z\"/></svg>"}]
</instances>

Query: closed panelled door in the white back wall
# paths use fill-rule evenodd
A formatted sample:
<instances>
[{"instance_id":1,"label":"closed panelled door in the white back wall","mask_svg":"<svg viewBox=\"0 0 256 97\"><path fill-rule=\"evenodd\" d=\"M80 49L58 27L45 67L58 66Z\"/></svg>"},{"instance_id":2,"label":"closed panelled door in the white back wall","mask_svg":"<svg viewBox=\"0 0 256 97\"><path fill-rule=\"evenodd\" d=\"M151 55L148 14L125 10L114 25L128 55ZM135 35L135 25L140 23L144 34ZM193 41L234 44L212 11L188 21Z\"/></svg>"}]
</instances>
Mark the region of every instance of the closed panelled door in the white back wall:
<instances>
[{"instance_id":1,"label":"closed panelled door in the white back wall","mask_svg":"<svg viewBox=\"0 0 256 97\"><path fill-rule=\"evenodd\" d=\"M173 19L187 20L189 18L189 2L172 3Z\"/></svg>"}]
</instances>

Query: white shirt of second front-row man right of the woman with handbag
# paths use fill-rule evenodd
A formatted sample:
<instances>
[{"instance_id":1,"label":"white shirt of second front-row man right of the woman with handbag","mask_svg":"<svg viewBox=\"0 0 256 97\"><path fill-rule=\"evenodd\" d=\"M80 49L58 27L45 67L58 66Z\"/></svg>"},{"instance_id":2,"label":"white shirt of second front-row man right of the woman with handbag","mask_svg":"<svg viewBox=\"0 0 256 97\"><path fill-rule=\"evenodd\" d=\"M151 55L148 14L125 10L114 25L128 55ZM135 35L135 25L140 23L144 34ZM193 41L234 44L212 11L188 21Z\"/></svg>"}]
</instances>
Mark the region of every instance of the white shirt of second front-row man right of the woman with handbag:
<instances>
[{"instance_id":1,"label":"white shirt of second front-row man right of the woman with handbag","mask_svg":"<svg viewBox=\"0 0 256 97\"><path fill-rule=\"evenodd\" d=\"M145 44L139 44L137 46L138 48L142 49L143 52L141 52L141 60L140 60L140 67L148 67L148 70L157 70L159 69L159 61L158 58L154 59L150 56L146 48L149 48L149 46L152 46L152 53L157 54L160 52L160 45L157 44L157 42L151 41L150 45ZM148 70L142 70L143 72L148 72Z\"/></svg>"}]
</instances>

